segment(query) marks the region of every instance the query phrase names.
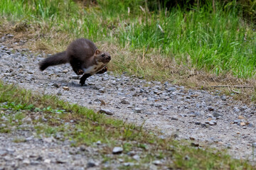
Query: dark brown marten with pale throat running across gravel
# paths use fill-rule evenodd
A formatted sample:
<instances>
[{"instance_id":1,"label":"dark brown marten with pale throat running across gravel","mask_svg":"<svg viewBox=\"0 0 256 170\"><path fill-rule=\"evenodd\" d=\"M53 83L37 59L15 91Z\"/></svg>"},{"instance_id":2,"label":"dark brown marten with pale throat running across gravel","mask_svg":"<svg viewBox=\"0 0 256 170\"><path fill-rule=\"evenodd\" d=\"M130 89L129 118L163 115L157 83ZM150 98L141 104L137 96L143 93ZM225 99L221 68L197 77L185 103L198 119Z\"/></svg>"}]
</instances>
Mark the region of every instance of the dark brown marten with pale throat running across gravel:
<instances>
[{"instance_id":1,"label":"dark brown marten with pale throat running across gravel","mask_svg":"<svg viewBox=\"0 0 256 170\"><path fill-rule=\"evenodd\" d=\"M39 68L43 71L49 66L69 62L75 74L83 74L80 78L80 84L83 86L85 80L92 74L107 72L106 65L110 60L110 53L98 50L91 40L80 38L71 42L67 50L51 55L40 62Z\"/></svg>"}]
</instances>

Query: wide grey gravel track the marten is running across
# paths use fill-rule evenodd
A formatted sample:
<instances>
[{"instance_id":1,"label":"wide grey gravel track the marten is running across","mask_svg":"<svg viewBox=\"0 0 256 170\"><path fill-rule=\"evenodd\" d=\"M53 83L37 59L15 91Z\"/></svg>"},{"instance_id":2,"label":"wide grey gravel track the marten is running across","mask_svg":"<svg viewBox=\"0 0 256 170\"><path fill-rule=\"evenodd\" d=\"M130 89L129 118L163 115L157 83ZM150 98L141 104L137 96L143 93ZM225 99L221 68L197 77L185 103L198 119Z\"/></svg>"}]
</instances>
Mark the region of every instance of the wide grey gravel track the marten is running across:
<instances>
[{"instance_id":1,"label":"wide grey gravel track the marten is running across","mask_svg":"<svg viewBox=\"0 0 256 170\"><path fill-rule=\"evenodd\" d=\"M218 91L210 94L111 72L95 74L87 79L87 86L80 86L79 77L69 64L40 72L38 62L45 57L26 49L13 51L0 44L0 77L95 111L107 109L114 118L137 125L144 123L145 129L161 131L160 137L195 140L201 145L226 148L235 158L254 159L255 106L220 96ZM4 138L1 137L1 145Z\"/></svg>"}]
</instances>

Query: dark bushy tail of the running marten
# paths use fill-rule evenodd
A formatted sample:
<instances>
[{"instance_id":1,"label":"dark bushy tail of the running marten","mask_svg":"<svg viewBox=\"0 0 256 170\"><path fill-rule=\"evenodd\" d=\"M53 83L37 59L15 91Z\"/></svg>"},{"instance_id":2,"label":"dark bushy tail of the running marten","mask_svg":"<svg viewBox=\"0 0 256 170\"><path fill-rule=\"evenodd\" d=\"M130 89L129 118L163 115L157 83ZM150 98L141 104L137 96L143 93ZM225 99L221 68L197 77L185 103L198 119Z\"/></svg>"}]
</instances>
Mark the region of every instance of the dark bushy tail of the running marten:
<instances>
[{"instance_id":1,"label":"dark bushy tail of the running marten","mask_svg":"<svg viewBox=\"0 0 256 170\"><path fill-rule=\"evenodd\" d=\"M45 60L39 63L39 69L41 71L45 70L49 66L65 64L68 62L68 57L66 57L66 52L59 52L55 55L47 57Z\"/></svg>"}]
</instances>

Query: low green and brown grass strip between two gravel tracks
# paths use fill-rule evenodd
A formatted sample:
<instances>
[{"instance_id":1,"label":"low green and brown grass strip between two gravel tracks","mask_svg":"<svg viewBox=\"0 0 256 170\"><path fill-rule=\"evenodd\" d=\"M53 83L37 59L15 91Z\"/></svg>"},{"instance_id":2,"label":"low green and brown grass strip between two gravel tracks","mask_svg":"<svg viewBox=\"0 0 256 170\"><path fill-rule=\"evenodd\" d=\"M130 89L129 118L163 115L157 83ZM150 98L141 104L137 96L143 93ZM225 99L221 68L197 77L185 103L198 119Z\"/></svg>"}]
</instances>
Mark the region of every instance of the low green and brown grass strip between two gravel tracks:
<instances>
[{"instance_id":1,"label":"low green and brown grass strip between two gravel tracks","mask_svg":"<svg viewBox=\"0 0 256 170\"><path fill-rule=\"evenodd\" d=\"M0 122L6 124L0 132L11 132L16 129L26 130L21 121L25 117L32 119L38 137L62 137L58 140L70 140L73 146L95 146L95 142L105 144L99 150L104 158L111 154L112 148L122 146L124 154L110 158L124 159L134 162L134 169L148 169L148 164L157 159L167 159L165 166L172 169L255 169L245 160L232 159L223 151L203 147L191 147L190 142L175 141L171 138L159 139L152 132L145 132L142 127L127 124L122 120L107 118L100 113L94 113L87 108L60 101L55 96L38 96L14 85L0 82ZM22 106L22 107L21 107ZM40 118L35 117L40 115ZM6 120L5 118L11 118ZM18 121L16 121L18 120ZM155 132L157 134L157 132ZM22 137L14 142L26 142ZM129 151L140 149L139 162L129 157ZM139 163L139 164L138 164ZM161 167L161 166L160 166ZM159 167L159 168L160 168ZM127 166L120 166L127 169Z\"/></svg>"}]
</instances>

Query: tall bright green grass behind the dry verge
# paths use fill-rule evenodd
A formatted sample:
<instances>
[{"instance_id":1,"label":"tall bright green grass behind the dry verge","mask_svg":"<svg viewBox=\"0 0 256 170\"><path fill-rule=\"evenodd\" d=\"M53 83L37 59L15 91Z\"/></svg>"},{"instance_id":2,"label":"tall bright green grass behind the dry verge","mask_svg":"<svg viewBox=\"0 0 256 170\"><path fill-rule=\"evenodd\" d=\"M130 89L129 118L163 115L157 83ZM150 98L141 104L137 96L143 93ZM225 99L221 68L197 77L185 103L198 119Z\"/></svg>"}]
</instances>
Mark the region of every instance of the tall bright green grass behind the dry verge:
<instances>
[{"instance_id":1,"label":"tall bright green grass behind the dry verge","mask_svg":"<svg viewBox=\"0 0 256 170\"><path fill-rule=\"evenodd\" d=\"M256 33L235 4L225 8L216 3L213 12L211 3L189 11L148 11L144 1L135 0L98 3L82 8L71 0L0 0L0 14L131 51L159 51L163 58L215 74L255 77Z\"/></svg>"}]
</instances>

